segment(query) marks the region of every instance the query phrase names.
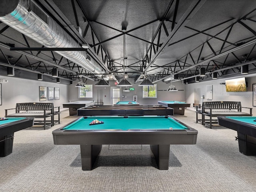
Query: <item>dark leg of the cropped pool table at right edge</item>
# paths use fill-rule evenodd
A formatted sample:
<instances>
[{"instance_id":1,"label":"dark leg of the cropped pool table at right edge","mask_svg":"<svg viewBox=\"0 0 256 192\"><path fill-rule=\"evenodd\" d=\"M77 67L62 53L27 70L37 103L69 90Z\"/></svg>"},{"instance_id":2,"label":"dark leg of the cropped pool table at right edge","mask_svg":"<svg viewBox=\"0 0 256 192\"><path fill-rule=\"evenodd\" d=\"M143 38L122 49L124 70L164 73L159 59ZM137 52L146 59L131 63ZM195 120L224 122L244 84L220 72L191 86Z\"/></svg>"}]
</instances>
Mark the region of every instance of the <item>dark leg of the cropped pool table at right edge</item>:
<instances>
[{"instance_id":1,"label":"dark leg of the cropped pool table at right edge","mask_svg":"<svg viewBox=\"0 0 256 192\"><path fill-rule=\"evenodd\" d=\"M256 155L256 138L237 132L239 152L244 155Z\"/></svg>"}]
</instances>

